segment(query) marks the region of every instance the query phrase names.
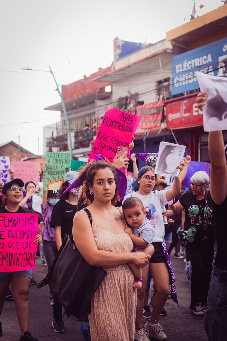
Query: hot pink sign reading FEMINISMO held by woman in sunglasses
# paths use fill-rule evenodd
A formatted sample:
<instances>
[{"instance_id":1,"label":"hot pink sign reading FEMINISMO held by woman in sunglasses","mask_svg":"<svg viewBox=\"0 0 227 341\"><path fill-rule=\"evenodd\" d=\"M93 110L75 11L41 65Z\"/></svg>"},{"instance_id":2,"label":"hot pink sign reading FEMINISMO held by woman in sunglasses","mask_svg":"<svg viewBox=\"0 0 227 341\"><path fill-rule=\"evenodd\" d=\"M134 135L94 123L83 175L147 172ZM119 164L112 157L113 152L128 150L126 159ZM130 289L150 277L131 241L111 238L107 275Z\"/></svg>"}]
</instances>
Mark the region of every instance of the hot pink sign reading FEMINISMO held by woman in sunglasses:
<instances>
[{"instance_id":1,"label":"hot pink sign reading FEMINISMO held by woman in sunglasses","mask_svg":"<svg viewBox=\"0 0 227 341\"><path fill-rule=\"evenodd\" d=\"M0 214L0 271L35 269L38 214Z\"/></svg>"}]
</instances>

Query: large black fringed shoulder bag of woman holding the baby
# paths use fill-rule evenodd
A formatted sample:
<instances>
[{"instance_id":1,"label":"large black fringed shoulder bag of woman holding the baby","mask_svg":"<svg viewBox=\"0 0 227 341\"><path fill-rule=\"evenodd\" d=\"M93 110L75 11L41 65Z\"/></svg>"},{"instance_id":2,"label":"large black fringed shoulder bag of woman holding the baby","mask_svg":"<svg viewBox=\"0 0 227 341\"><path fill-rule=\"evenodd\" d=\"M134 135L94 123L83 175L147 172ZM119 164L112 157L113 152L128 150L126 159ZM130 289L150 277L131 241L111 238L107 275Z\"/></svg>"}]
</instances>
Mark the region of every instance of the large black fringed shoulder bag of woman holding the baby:
<instances>
[{"instance_id":1,"label":"large black fringed shoulder bag of woman holding the baby","mask_svg":"<svg viewBox=\"0 0 227 341\"><path fill-rule=\"evenodd\" d=\"M92 216L84 208L92 224ZM87 263L69 235L59 249L47 276L37 288L52 283L67 316L86 316L91 313L91 298L107 272Z\"/></svg>"}]
</instances>

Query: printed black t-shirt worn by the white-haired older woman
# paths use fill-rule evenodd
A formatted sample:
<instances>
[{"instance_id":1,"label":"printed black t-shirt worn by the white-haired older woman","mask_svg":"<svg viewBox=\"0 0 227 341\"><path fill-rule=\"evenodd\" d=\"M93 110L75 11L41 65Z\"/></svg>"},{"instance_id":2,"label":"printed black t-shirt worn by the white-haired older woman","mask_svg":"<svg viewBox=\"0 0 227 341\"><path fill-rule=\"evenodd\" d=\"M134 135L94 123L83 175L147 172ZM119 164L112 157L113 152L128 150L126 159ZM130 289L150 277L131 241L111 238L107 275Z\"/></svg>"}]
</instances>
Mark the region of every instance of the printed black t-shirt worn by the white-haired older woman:
<instances>
[{"instance_id":1,"label":"printed black t-shirt worn by the white-haired older woman","mask_svg":"<svg viewBox=\"0 0 227 341\"><path fill-rule=\"evenodd\" d=\"M184 229L188 230L190 227L195 226L197 232L202 232L201 230L203 227L199 227L199 225L201 222L204 222L208 226L207 237L214 239L213 210L210 192L207 191L207 208L206 199L204 198L202 200L197 200L192 191L188 191L181 195L179 202L182 206L184 206ZM199 206L201 206L200 213ZM199 235L200 234L196 233L196 239L199 237Z\"/></svg>"}]
</instances>

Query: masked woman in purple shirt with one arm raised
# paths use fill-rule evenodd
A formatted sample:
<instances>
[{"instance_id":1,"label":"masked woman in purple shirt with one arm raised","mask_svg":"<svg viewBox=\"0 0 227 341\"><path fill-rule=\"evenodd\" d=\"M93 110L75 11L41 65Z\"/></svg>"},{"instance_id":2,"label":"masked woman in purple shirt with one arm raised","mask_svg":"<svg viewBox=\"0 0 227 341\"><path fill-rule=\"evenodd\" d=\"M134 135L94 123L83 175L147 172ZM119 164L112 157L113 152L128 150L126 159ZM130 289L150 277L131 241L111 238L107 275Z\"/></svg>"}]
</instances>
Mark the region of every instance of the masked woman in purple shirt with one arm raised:
<instances>
[{"instance_id":1,"label":"masked woman in purple shirt with one arm raised","mask_svg":"<svg viewBox=\"0 0 227 341\"><path fill-rule=\"evenodd\" d=\"M46 172L47 168L43 167L43 172ZM44 175L43 175L43 188L44 188ZM50 268L54 257L57 253L57 247L55 242L55 231L53 227L50 227L50 218L54 205L59 201L56 198L58 190L43 190L43 202L42 202L42 237L43 237L43 251L47 262L47 269ZM50 293L50 305L53 305L54 287L49 283Z\"/></svg>"}]
</instances>

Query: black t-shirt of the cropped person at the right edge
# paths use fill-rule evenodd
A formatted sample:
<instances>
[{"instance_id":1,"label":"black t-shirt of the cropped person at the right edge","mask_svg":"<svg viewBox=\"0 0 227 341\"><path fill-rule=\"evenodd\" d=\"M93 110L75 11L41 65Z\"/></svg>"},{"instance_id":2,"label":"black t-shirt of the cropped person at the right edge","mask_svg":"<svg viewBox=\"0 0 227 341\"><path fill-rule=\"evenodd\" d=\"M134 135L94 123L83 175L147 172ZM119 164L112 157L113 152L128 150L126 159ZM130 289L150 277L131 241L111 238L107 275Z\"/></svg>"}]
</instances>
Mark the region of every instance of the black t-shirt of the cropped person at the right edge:
<instances>
[{"instance_id":1,"label":"black t-shirt of the cropped person at the right edge","mask_svg":"<svg viewBox=\"0 0 227 341\"><path fill-rule=\"evenodd\" d=\"M221 205L213 204L214 228L215 238L217 241L217 253L215 257L215 266L219 269L227 271L227 228L226 228L226 211L227 211L227 197Z\"/></svg>"}]
</instances>

